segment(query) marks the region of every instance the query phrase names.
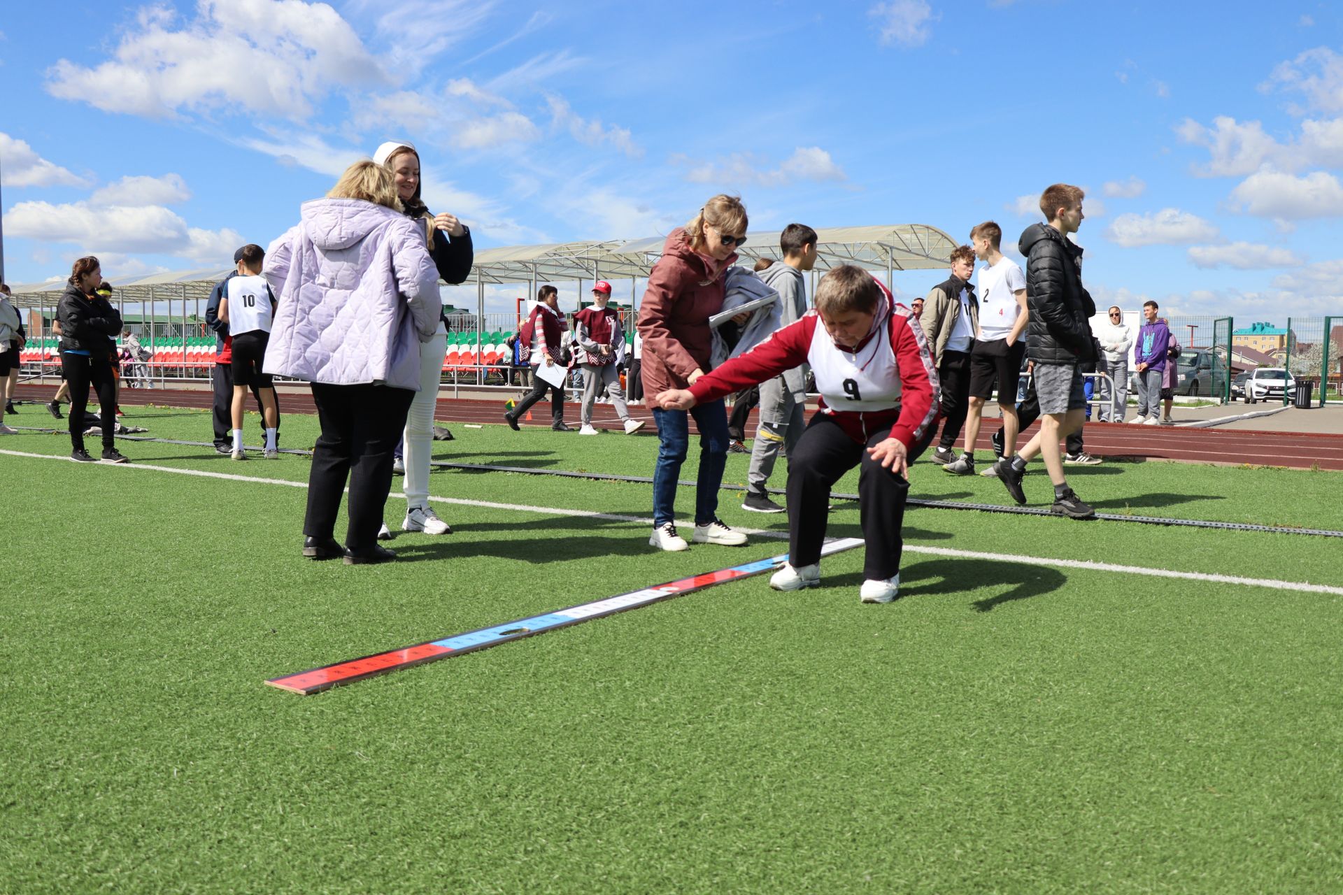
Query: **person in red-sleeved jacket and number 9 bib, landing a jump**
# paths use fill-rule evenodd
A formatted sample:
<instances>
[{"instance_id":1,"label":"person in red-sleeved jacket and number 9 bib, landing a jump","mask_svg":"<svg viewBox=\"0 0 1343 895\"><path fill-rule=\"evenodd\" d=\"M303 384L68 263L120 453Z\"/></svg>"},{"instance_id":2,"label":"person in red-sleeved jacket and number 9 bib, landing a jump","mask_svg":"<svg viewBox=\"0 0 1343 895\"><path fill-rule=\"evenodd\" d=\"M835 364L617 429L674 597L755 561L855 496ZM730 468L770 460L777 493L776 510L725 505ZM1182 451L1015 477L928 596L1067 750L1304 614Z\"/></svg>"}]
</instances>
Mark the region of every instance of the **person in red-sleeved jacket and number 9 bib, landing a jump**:
<instances>
[{"instance_id":1,"label":"person in red-sleeved jacket and number 9 bib, landing a jump","mask_svg":"<svg viewBox=\"0 0 1343 895\"><path fill-rule=\"evenodd\" d=\"M689 389L657 396L663 409L696 404L810 364L821 392L788 462L788 562L770 578L776 590L821 584L821 546L830 488L862 467L858 501L868 550L861 598L890 602L900 589L908 466L928 447L937 423L937 370L909 309L861 267L835 267L815 295L817 307Z\"/></svg>"}]
</instances>

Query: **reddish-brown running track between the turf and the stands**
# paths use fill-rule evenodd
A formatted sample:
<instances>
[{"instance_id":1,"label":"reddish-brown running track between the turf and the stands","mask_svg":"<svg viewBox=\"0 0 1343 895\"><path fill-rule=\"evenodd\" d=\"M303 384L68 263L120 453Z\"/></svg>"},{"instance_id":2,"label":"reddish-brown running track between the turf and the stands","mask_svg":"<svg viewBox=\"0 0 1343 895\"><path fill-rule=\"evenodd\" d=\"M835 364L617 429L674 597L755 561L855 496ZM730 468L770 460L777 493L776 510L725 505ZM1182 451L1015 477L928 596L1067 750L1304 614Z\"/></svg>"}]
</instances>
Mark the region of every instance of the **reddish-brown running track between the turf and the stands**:
<instances>
[{"instance_id":1,"label":"reddish-brown running track between the turf and the stands","mask_svg":"<svg viewBox=\"0 0 1343 895\"><path fill-rule=\"evenodd\" d=\"M50 400L54 386L20 385L16 399L23 401ZM210 408L211 393L191 389L122 389L121 403L125 407L156 404L160 407ZM34 408L36 409L36 408ZM316 413L310 394L304 392L281 396L281 409L297 413ZM27 408L26 408L27 411ZM1228 411L1232 412L1230 409ZM435 419L445 423L490 423L504 421L504 397L496 401L469 399L439 399ZM653 413L647 408L631 407L631 416L649 421L646 431L654 431ZM549 425L549 401L533 408L530 425ZM9 417L11 421L19 417ZM50 417L47 417L50 419ZM565 420L577 427L577 405L572 401L565 407ZM756 412L752 411L747 432L755 431ZM594 424L598 428L618 428L618 420L610 405L599 404L594 409ZM24 421L24 424L30 424ZM524 421L524 425L528 423ZM1027 429L1034 432L1038 424ZM988 437L997 429L997 420L986 420L980 431L982 451L991 451ZM210 432L201 433L201 440ZM1023 441L1022 441L1023 443ZM1189 463L1219 463L1238 466L1285 466L1308 470L1319 466L1322 470L1343 470L1343 435L1319 435L1301 432L1257 432L1250 429L1182 429L1171 427L1132 425L1115 423L1086 424L1086 451L1096 456L1111 458L1152 458L1160 460L1183 460Z\"/></svg>"}]
</instances>

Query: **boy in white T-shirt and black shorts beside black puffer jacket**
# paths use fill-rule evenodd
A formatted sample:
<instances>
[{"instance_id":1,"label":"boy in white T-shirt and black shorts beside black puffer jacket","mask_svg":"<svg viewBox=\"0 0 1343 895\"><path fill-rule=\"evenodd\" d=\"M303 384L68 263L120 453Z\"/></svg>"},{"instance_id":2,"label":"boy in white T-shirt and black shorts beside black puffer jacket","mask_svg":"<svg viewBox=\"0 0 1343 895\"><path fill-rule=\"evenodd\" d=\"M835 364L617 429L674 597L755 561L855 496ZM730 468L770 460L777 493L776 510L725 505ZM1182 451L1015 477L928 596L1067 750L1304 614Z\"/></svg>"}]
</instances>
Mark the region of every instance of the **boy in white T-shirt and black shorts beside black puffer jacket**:
<instances>
[{"instance_id":1,"label":"boy in white T-shirt and black shorts beside black puffer jacket","mask_svg":"<svg viewBox=\"0 0 1343 895\"><path fill-rule=\"evenodd\" d=\"M979 331L970 352L970 407L966 412L966 451L941 468L954 475L974 475L975 440L984 413L984 401L998 385L998 409L1003 417L1007 455L1017 450L1017 384L1021 358L1026 353L1026 275L1017 262L999 251L1003 231L986 220L970 231L979 268Z\"/></svg>"}]
</instances>

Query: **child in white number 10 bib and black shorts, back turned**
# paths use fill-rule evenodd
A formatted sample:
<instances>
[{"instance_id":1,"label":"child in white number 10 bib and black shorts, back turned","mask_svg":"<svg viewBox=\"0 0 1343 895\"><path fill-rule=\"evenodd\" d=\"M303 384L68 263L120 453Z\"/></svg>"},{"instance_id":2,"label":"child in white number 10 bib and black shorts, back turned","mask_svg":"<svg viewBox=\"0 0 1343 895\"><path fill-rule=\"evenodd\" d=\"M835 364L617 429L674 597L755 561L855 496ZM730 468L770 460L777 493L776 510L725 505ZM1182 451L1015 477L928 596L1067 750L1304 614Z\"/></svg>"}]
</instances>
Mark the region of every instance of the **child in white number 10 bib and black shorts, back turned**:
<instances>
[{"instance_id":1,"label":"child in white number 10 bib and black shorts, back turned","mask_svg":"<svg viewBox=\"0 0 1343 895\"><path fill-rule=\"evenodd\" d=\"M231 409L234 423L235 460L246 460L243 452L243 407L247 404L247 389L257 388L261 400L262 419L266 423L266 459L275 460L275 388L270 376L262 373L266 360L266 344L270 341L270 326L275 313L275 297L261 275L266 251L261 246L248 244L239 250L238 276L227 280L227 294L219 302L219 319L228 323L232 335L234 403Z\"/></svg>"}]
</instances>

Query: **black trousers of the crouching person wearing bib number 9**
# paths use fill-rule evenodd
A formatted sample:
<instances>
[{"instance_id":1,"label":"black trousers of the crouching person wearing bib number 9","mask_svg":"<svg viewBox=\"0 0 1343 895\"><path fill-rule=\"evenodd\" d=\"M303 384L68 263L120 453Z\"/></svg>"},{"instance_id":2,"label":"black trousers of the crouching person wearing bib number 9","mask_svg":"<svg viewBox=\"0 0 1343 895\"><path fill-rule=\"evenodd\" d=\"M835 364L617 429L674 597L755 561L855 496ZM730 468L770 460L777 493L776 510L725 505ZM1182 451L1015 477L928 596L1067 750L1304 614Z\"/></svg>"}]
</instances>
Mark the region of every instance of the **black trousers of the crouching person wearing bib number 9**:
<instances>
[{"instance_id":1,"label":"black trousers of the crouching person wearing bib number 9","mask_svg":"<svg viewBox=\"0 0 1343 895\"><path fill-rule=\"evenodd\" d=\"M788 463L788 562L794 569L821 561L821 545L830 521L830 488L860 466L858 513L868 542L862 573L885 581L900 572L904 549L901 526L909 482L872 459L868 448L884 441L890 429L858 444L831 417L817 413L798 440ZM932 429L909 451L911 463L932 441Z\"/></svg>"}]
</instances>

